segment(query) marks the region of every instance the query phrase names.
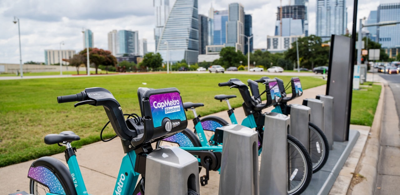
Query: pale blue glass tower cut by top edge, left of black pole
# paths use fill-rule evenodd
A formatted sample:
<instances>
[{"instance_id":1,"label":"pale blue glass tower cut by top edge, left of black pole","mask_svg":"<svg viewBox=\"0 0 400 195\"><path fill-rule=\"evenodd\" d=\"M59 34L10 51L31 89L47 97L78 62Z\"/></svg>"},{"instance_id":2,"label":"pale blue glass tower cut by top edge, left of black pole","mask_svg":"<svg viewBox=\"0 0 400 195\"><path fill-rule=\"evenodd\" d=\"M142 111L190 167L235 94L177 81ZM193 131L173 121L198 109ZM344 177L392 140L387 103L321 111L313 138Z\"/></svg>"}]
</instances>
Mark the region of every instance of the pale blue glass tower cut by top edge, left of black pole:
<instances>
[{"instance_id":1,"label":"pale blue glass tower cut by top edge, left of black pole","mask_svg":"<svg viewBox=\"0 0 400 195\"><path fill-rule=\"evenodd\" d=\"M317 0L316 35L329 39L345 34L346 15L346 0Z\"/></svg>"}]
</instances>

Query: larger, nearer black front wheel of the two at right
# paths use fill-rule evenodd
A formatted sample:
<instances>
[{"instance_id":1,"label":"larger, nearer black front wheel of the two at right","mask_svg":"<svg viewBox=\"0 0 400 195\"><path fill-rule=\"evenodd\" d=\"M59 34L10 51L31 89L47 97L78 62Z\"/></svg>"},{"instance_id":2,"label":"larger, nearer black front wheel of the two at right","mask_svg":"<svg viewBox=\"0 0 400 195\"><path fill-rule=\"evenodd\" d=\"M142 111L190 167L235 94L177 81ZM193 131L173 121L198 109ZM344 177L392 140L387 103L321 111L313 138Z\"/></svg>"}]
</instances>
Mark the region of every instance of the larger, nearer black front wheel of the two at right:
<instances>
[{"instance_id":1,"label":"larger, nearer black front wheel of the two at right","mask_svg":"<svg viewBox=\"0 0 400 195\"><path fill-rule=\"evenodd\" d=\"M310 184L312 163L306 148L288 135L288 195L302 193Z\"/></svg>"}]
</instances>

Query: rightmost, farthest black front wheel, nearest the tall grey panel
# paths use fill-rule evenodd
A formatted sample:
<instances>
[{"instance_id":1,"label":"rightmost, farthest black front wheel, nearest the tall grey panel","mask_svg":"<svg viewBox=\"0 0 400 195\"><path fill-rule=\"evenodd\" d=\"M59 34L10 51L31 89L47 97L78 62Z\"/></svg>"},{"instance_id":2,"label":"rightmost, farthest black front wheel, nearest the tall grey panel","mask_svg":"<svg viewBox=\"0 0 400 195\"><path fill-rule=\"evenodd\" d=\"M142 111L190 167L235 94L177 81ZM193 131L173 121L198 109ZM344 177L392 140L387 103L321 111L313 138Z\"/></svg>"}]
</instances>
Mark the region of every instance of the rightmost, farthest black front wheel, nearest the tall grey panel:
<instances>
[{"instance_id":1,"label":"rightmost, farthest black front wheel, nearest the tall grey panel","mask_svg":"<svg viewBox=\"0 0 400 195\"><path fill-rule=\"evenodd\" d=\"M320 170L328 160L329 146L324 132L312 122L308 122L310 130L310 157L312 162L312 172Z\"/></svg>"}]
</instances>

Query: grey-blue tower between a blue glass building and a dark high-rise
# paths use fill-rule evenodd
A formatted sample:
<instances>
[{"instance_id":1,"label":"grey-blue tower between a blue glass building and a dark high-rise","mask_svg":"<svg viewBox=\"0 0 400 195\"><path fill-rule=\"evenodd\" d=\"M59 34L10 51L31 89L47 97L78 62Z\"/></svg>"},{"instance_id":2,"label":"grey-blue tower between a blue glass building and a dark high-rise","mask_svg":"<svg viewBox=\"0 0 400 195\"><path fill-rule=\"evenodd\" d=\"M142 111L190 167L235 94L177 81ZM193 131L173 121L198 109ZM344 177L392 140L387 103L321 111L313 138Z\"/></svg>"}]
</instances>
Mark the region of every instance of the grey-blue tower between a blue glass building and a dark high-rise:
<instances>
[{"instance_id":1,"label":"grey-blue tower between a blue glass building and a dark high-rise","mask_svg":"<svg viewBox=\"0 0 400 195\"><path fill-rule=\"evenodd\" d=\"M226 22L226 47L235 47L244 53L244 8L242 4L229 4L228 22ZM215 34L214 34L215 35Z\"/></svg>"}]
</instances>

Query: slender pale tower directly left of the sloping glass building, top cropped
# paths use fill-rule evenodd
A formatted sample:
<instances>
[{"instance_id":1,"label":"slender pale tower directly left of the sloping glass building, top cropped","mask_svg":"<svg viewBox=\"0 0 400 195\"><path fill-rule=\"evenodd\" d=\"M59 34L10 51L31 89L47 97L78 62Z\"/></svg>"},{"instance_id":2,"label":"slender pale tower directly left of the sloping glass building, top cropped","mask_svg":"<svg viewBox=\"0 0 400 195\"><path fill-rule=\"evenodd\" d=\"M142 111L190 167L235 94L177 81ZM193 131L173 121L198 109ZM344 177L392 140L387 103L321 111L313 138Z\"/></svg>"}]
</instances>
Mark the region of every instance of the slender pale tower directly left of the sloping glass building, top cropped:
<instances>
[{"instance_id":1,"label":"slender pale tower directly left of the sloping glass building, top cropped","mask_svg":"<svg viewBox=\"0 0 400 195\"><path fill-rule=\"evenodd\" d=\"M154 40L156 41L156 52L158 51L158 41L161 37L164 25L168 20L170 13L170 1L169 0L153 0L153 7L155 8L156 15L156 28L154 28Z\"/></svg>"}]
</instances>

